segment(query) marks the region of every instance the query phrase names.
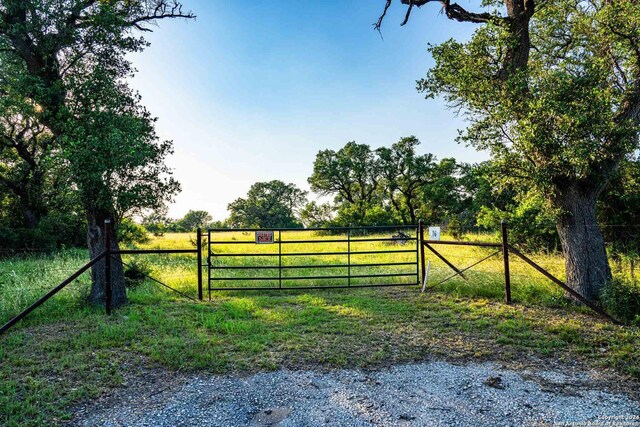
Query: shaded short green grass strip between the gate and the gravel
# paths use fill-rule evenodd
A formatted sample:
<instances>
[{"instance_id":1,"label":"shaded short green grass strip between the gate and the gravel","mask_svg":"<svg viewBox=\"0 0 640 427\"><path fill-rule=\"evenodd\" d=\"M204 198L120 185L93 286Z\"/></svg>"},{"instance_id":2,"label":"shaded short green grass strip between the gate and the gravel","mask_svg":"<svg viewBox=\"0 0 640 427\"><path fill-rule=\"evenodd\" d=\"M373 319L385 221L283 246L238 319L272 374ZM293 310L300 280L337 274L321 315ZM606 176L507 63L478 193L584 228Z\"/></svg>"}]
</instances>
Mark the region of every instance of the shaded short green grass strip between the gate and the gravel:
<instances>
[{"instance_id":1,"label":"shaded short green grass strip between the gate and the gravel","mask_svg":"<svg viewBox=\"0 0 640 427\"><path fill-rule=\"evenodd\" d=\"M72 402L149 366L227 373L553 356L640 378L638 328L531 306L530 295L507 306L497 281L473 297L467 286L235 292L193 303L146 284L111 317L70 300L0 337L0 424L63 420Z\"/></svg>"}]
</instances>

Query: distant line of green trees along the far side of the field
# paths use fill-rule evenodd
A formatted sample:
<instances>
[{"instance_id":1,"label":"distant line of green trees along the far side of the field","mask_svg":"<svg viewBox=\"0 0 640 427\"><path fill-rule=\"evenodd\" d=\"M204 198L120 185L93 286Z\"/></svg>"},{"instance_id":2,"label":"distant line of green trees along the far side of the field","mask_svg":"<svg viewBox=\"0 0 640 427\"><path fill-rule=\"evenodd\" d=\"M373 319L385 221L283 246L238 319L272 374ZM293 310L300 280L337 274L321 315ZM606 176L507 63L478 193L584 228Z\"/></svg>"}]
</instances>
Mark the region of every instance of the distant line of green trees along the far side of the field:
<instances>
[{"instance_id":1,"label":"distant line of green trees along the far side of the field","mask_svg":"<svg viewBox=\"0 0 640 427\"><path fill-rule=\"evenodd\" d=\"M372 150L349 142L322 150L308 178L312 191L330 202L309 201L309 194L279 180L258 182L245 197L228 205L229 217L212 222L205 211L189 211L172 220L153 214L144 227L154 233L192 231L198 226L325 227L348 225L442 225L456 238L468 232L492 232L503 219L511 236L531 249L559 249L556 213L530 189L498 185L500 171L491 161L467 164L453 158L418 154L415 137ZM640 162L626 160L598 204L607 241L628 250L640 241Z\"/></svg>"}]
</instances>

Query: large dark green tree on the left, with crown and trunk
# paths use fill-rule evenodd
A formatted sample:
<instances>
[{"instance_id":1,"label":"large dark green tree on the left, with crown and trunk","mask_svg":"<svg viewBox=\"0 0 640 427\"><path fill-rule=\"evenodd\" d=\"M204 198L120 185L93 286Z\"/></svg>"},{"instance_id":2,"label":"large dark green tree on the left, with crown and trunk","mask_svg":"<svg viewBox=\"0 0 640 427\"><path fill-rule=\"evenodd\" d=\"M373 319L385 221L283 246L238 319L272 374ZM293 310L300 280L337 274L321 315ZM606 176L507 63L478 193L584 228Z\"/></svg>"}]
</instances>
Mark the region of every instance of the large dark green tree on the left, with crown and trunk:
<instances>
[{"instance_id":1,"label":"large dark green tree on the left, with crown and trunk","mask_svg":"<svg viewBox=\"0 0 640 427\"><path fill-rule=\"evenodd\" d=\"M104 247L105 220L117 226L126 213L156 208L177 190L163 164L170 143L157 141L154 119L127 87L133 70L125 58L146 45L136 30L174 17L192 15L171 0L0 4L0 94L30 106L23 124L36 120L58 144L83 202L92 256ZM117 249L115 230L111 241ZM112 266L117 306L126 302L124 277L120 263ZM103 266L92 274L91 301L102 302Z\"/></svg>"}]
</instances>

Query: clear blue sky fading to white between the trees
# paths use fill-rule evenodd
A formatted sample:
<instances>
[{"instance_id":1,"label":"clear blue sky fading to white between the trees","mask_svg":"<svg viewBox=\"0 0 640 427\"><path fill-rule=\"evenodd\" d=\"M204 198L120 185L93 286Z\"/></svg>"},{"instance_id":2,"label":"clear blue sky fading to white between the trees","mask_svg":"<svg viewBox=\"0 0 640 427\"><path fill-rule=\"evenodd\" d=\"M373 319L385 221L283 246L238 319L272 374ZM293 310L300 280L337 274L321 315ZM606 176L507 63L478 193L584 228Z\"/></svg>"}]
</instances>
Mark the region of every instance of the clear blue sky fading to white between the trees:
<instances>
[{"instance_id":1,"label":"clear blue sky fading to white between the trees","mask_svg":"<svg viewBox=\"0 0 640 427\"><path fill-rule=\"evenodd\" d=\"M421 151L473 162L486 156L454 142L464 122L415 81L433 64L428 43L467 39L474 26L448 21L437 5L396 1L382 35L384 0L184 0L195 21L163 21L132 56L133 86L174 141L168 160L189 209L227 216L227 204L257 181L308 189L316 153L355 140L376 148L415 135Z\"/></svg>"}]
</instances>

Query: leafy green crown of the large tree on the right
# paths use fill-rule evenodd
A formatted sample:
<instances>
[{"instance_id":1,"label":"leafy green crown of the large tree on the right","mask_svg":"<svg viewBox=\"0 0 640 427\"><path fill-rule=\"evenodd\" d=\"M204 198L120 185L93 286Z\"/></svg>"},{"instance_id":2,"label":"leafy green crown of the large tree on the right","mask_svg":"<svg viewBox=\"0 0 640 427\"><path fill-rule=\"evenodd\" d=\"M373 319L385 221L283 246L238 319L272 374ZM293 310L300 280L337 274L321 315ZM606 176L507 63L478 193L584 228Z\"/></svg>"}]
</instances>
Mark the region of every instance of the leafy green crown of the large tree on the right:
<instances>
[{"instance_id":1,"label":"leafy green crown of the large tree on the right","mask_svg":"<svg viewBox=\"0 0 640 427\"><path fill-rule=\"evenodd\" d=\"M486 25L467 43L431 46L436 65L418 89L465 114L459 141L508 165L506 181L548 195L566 180L600 186L637 146L639 20L633 2L548 2L530 21L526 68L505 74L515 36Z\"/></svg>"}]
</instances>

